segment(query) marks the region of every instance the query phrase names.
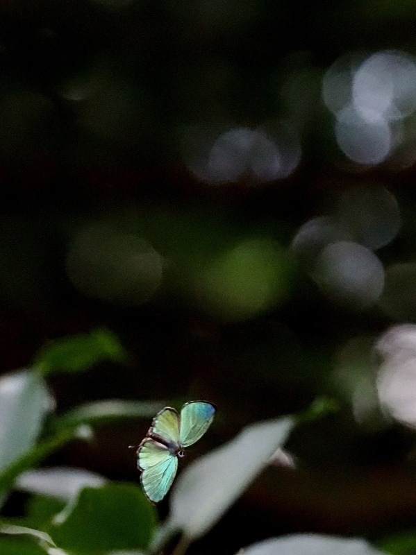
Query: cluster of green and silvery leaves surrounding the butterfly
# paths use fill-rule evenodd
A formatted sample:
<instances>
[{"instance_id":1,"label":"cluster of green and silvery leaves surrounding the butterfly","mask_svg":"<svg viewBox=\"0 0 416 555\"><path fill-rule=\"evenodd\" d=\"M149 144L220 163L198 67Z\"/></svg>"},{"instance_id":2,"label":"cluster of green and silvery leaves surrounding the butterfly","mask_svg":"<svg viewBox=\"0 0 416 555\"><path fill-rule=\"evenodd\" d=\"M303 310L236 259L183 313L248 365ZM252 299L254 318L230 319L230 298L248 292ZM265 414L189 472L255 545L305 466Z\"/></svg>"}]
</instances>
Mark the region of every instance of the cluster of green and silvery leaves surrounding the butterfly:
<instances>
[{"instance_id":1,"label":"cluster of green and silvery leaves surrounding the butterfly","mask_svg":"<svg viewBox=\"0 0 416 555\"><path fill-rule=\"evenodd\" d=\"M78 371L87 370L92 361L89 343L97 359L112 356L105 342L100 343L102 351L97 350L96 338L91 333L65 338L62 345L56 341L49 347L51 352L48 348L42 350L33 369L0 379L1 406L7 409L2 420L0 452L10 452L0 472L3 500L13 488L30 494L23 517L3 518L0 547L6 555L153 553L177 532L181 533L181 540L176 551L184 552L213 527L267 466L297 421L310 421L334 409L331 401L318 400L299 418L287 416L258 422L201 456L176 481L169 515L157 525L156 509L137 484L108 481L81 469L35 469L54 450L76 438L85 425L108 424L120 418L149 418L160 406L157 402L107 400L72 409L59 417L53 415L53 398L39 373L40 367L44 370L47 366L39 361L59 359L59 364L50 364L49 369L53 366L54 371L65 372L74 367L76 360ZM35 426L31 427L33 422ZM26 434L18 436L22 427Z\"/></svg>"}]
</instances>

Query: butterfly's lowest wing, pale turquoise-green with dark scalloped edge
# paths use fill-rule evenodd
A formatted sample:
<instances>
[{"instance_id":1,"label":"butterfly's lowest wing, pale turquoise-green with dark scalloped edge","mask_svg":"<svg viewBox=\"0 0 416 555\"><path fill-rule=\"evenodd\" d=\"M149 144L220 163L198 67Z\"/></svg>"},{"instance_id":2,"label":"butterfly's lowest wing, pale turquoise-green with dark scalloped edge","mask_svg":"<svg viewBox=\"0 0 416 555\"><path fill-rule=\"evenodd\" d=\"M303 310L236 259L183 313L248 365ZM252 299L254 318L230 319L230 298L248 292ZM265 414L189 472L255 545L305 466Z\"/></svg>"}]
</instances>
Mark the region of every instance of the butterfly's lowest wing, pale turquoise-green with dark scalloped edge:
<instances>
[{"instance_id":1,"label":"butterfly's lowest wing, pale turquoise-green with dark scalloped edge","mask_svg":"<svg viewBox=\"0 0 416 555\"><path fill-rule=\"evenodd\" d=\"M140 481L145 495L152 503L158 503L172 486L178 459L165 445L144 438L138 448L138 468L142 470Z\"/></svg>"}]
</instances>

